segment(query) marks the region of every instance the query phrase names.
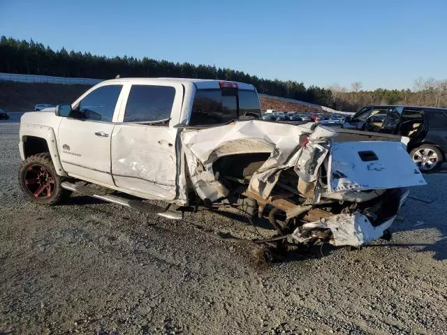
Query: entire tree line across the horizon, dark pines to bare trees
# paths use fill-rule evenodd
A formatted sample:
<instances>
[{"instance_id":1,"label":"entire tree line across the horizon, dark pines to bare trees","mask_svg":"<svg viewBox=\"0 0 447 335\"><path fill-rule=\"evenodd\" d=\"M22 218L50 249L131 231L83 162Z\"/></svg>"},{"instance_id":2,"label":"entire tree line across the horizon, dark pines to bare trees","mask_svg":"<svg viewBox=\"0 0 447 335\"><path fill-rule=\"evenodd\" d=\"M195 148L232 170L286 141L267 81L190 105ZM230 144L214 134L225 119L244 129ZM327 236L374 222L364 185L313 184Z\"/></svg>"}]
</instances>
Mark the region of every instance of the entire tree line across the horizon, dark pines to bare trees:
<instances>
[{"instance_id":1,"label":"entire tree line across the horizon, dark pines to bare trees","mask_svg":"<svg viewBox=\"0 0 447 335\"><path fill-rule=\"evenodd\" d=\"M52 50L34 40L0 38L0 72L59 77L111 79L121 77L186 77L235 80L253 84L259 93L291 98L307 103L355 112L364 105L430 105L447 106L447 80L415 80L413 89L362 90L362 82L351 87L332 84L330 87L305 87L302 82L268 80L230 68L210 65L173 63L143 57L105 57L90 52Z\"/></svg>"}]
</instances>

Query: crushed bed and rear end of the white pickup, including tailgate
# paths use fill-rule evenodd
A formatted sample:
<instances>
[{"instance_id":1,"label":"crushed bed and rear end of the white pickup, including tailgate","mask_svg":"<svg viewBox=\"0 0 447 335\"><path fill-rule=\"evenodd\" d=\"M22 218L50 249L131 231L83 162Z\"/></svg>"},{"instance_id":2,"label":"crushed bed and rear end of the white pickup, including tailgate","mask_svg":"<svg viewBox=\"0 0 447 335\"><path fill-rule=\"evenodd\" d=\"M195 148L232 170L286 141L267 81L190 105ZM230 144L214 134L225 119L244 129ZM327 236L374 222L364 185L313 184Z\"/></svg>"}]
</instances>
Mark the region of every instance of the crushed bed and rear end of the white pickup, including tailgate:
<instances>
[{"instance_id":1,"label":"crushed bed and rear end of the white pickup, including tailgate","mask_svg":"<svg viewBox=\"0 0 447 335\"><path fill-rule=\"evenodd\" d=\"M184 180L207 207L268 218L278 240L361 246L388 230L409 186L426 183L405 137L341 137L311 123L186 126Z\"/></svg>"}]
</instances>

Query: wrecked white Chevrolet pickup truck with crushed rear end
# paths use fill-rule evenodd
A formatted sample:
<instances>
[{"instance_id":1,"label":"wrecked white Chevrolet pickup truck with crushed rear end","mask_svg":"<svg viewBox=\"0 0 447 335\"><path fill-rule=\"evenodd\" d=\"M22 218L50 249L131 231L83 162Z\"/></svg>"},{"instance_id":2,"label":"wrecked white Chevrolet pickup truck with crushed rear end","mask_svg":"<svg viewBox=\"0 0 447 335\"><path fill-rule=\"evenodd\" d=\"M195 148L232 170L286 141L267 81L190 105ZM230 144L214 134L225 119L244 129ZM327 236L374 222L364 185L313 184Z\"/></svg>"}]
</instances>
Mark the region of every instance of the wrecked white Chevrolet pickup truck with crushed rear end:
<instances>
[{"instance_id":1,"label":"wrecked white Chevrolet pickup truck with crushed rear end","mask_svg":"<svg viewBox=\"0 0 447 335\"><path fill-rule=\"evenodd\" d=\"M388 232L409 186L425 184L405 137L259 115L250 84L101 82L71 105L22 116L20 186L40 204L74 191L168 218L236 209L268 218L278 241L360 246Z\"/></svg>"}]
</instances>

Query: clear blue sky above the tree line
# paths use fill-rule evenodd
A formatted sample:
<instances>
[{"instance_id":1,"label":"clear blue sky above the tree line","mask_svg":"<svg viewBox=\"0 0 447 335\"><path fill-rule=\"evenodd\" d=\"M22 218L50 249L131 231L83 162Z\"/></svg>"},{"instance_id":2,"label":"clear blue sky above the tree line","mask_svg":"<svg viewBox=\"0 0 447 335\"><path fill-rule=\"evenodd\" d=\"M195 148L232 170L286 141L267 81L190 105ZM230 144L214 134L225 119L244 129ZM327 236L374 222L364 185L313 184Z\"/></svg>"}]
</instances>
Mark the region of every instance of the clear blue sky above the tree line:
<instances>
[{"instance_id":1,"label":"clear blue sky above the tree line","mask_svg":"<svg viewBox=\"0 0 447 335\"><path fill-rule=\"evenodd\" d=\"M0 0L0 35L364 89L447 78L447 1Z\"/></svg>"}]
</instances>

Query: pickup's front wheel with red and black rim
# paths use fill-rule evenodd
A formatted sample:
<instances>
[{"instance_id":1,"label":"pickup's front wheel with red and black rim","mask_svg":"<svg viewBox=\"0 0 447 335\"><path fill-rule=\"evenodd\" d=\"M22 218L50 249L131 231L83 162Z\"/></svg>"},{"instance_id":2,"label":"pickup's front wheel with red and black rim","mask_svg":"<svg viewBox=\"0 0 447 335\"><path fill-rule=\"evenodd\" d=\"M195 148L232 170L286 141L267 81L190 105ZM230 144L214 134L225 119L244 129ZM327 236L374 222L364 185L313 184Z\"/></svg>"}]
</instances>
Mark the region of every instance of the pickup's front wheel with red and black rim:
<instances>
[{"instance_id":1,"label":"pickup's front wheel with red and black rim","mask_svg":"<svg viewBox=\"0 0 447 335\"><path fill-rule=\"evenodd\" d=\"M19 184L24 195L38 204L57 204L70 192L61 187L61 177L49 153L29 156L20 165Z\"/></svg>"}]
</instances>

